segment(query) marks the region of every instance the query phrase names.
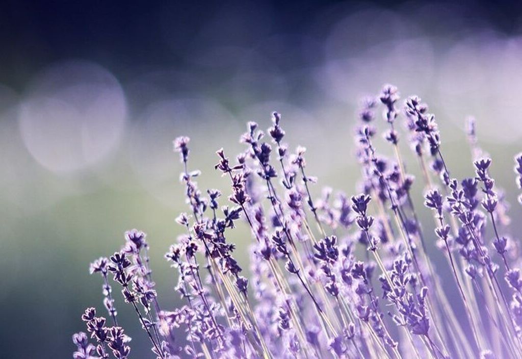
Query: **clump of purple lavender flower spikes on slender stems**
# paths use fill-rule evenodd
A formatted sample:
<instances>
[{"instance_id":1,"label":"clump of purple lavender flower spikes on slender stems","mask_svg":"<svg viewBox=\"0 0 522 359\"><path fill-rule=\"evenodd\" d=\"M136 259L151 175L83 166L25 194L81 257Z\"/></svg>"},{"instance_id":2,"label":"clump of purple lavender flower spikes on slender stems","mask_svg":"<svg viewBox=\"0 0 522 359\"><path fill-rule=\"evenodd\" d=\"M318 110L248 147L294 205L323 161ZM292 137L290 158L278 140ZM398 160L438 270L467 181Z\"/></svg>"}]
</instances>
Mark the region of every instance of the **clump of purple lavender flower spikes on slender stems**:
<instances>
[{"instance_id":1,"label":"clump of purple lavender flower spikes on slender stems","mask_svg":"<svg viewBox=\"0 0 522 359\"><path fill-rule=\"evenodd\" d=\"M177 138L187 212L176 218L182 234L165 259L177 274L181 305L160 306L146 234L128 231L120 250L90 266L101 274L113 326L87 308L81 318L90 341L75 334L73 357L132 356L110 277L158 359L522 357L517 242L504 234L508 205L475 122L468 121L468 138L476 173L459 182L428 106L412 96L401 108L399 100L397 88L386 85L362 103L355 128L362 177L351 197L331 188L312 196L316 178L306 173L306 150L290 153L277 112L266 133L247 124L245 150L235 159L216 152L215 170L230 181L226 199L216 189L201 192L200 172L189 169L189 139ZM383 137L393 148L382 151L392 158L375 145L379 102ZM399 120L420 184L407 173ZM522 154L515 173L522 188ZM424 208L414 206L417 198ZM430 212L434 223L421 223ZM229 240L239 225L252 236L248 275ZM435 263L441 255L429 250L431 242L442 262Z\"/></svg>"}]
</instances>

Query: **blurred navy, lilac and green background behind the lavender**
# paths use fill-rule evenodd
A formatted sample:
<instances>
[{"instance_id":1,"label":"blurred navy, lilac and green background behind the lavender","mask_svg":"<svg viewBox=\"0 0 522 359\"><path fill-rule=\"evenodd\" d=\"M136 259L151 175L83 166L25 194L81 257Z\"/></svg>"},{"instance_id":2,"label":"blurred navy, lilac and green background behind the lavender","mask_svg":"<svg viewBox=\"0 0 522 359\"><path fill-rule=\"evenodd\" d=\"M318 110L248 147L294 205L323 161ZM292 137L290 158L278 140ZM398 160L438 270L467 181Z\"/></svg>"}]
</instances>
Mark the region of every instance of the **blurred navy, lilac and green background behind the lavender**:
<instances>
[{"instance_id":1,"label":"blurred navy, lilac and green background behind the lavender","mask_svg":"<svg viewBox=\"0 0 522 359\"><path fill-rule=\"evenodd\" d=\"M518 2L4 0L0 357L70 357L84 308L104 313L89 262L118 249L128 229L148 233L161 301L177 303L162 258L185 210L175 137L192 138L200 188L228 194L215 151L239 152L246 121L267 128L279 111L291 148L308 148L314 194L325 185L353 194L358 103L387 82L430 104L458 176L472 174L464 128L476 116L516 235L521 16ZM246 227L231 239L240 249L251 241ZM150 357L116 297L133 357Z\"/></svg>"}]
</instances>

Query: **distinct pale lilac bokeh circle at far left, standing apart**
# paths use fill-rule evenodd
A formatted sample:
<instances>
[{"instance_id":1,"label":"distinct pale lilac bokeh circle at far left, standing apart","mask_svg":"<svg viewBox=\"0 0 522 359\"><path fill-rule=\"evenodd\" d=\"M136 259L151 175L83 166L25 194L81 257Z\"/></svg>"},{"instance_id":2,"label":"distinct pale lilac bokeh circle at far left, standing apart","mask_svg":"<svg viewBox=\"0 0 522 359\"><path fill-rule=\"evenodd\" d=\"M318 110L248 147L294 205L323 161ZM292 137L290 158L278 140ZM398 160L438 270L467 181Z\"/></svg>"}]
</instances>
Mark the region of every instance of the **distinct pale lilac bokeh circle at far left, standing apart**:
<instances>
[{"instance_id":1,"label":"distinct pale lilac bokeh circle at far left, standing apart","mask_svg":"<svg viewBox=\"0 0 522 359\"><path fill-rule=\"evenodd\" d=\"M116 78L89 62L45 70L19 111L23 142L46 169L73 172L97 163L119 143L127 116Z\"/></svg>"}]
</instances>

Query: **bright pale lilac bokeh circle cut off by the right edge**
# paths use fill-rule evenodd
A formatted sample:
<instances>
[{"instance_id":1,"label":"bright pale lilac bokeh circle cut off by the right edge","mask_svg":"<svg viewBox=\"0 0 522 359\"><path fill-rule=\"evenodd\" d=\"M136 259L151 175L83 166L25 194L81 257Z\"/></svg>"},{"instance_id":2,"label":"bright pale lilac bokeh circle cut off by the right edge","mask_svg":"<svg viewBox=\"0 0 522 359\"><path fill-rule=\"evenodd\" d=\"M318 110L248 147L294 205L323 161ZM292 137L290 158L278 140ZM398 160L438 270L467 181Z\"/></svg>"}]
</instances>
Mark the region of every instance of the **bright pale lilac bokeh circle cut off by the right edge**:
<instances>
[{"instance_id":1,"label":"bright pale lilac bokeh circle cut off by the right edge","mask_svg":"<svg viewBox=\"0 0 522 359\"><path fill-rule=\"evenodd\" d=\"M519 139L521 67L521 39L488 32L457 43L443 59L438 77L444 118L463 127L471 114L477 117L479 138Z\"/></svg>"}]
</instances>

